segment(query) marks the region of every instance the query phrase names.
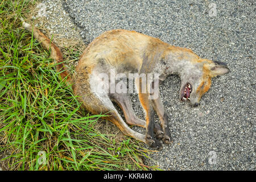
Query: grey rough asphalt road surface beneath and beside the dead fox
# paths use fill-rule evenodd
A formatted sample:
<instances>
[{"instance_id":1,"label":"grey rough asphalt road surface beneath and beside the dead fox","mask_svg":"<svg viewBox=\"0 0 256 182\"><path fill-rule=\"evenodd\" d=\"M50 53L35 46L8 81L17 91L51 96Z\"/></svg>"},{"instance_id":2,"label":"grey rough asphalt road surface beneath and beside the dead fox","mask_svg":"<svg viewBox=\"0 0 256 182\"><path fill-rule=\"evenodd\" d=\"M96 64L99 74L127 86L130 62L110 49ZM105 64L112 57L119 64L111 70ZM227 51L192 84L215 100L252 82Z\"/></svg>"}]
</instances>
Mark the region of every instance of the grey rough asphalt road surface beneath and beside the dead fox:
<instances>
[{"instance_id":1,"label":"grey rough asphalt road surface beneath and beside the dead fox","mask_svg":"<svg viewBox=\"0 0 256 182\"><path fill-rule=\"evenodd\" d=\"M196 108L179 101L179 77L170 76L160 85L174 143L145 163L167 170L256 169L255 1L43 2L57 17L61 15L51 10L63 3L64 13L80 27L85 43L104 31L122 28L227 63L230 73L213 79ZM135 113L144 118L135 95L132 101Z\"/></svg>"}]
</instances>

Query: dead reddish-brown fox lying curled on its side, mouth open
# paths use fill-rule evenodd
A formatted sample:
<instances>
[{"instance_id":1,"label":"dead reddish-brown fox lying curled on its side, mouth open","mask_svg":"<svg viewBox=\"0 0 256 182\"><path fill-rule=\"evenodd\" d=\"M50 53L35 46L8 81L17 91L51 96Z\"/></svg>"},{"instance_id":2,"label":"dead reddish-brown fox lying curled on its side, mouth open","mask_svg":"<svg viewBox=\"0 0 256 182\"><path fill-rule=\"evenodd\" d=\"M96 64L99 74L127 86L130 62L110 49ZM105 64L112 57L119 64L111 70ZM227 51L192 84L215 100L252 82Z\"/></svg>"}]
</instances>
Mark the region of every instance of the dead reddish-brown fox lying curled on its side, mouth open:
<instances>
[{"instance_id":1,"label":"dead reddish-brown fox lying curled on its side, mouth open","mask_svg":"<svg viewBox=\"0 0 256 182\"><path fill-rule=\"evenodd\" d=\"M129 94L98 92L97 86L102 82L98 75L110 75L111 69L125 75L158 73L159 80L163 81L168 75L176 74L181 79L180 100L189 100L192 106L197 106L200 98L209 90L211 78L229 72L225 63L202 59L191 49L171 46L160 39L135 31L112 30L104 32L86 47L76 67L76 73L71 76L64 66L60 49L37 28L23 20L22 24L26 30L33 32L35 39L44 48L51 51L52 59L58 63L57 72L60 72L61 78L67 78L68 84L72 85L74 94L79 96L78 99L86 110L92 114L108 113L105 119L118 126L123 134L159 150L162 148L160 140L166 144L171 143L168 114L164 111L160 94L158 98L151 100L148 90L141 92L142 79L136 78L139 101L146 114L144 121L134 114ZM156 80L150 83L153 87L154 81ZM146 135L130 129L112 101L121 107L126 122L146 128ZM160 126L154 122L154 112L159 117Z\"/></svg>"}]
</instances>

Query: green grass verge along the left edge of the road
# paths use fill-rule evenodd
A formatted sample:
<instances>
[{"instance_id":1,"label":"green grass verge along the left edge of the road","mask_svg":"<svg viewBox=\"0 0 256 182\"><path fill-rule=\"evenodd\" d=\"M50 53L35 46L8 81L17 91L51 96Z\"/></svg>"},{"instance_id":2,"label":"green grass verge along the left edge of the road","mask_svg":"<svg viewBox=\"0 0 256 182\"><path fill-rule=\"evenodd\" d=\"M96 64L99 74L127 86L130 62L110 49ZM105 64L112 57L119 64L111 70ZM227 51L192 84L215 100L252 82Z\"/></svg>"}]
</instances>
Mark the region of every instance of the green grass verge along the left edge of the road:
<instances>
[{"instance_id":1,"label":"green grass verge along the left edge of the road","mask_svg":"<svg viewBox=\"0 0 256 182\"><path fill-rule=\"evenodd\" d=\"M97 130L102 115L80 109L49 53L20 28L19 17L35 3L0 1L0 168L155 169L143 164L148 151L140 142Z\"/></svg>"}]
</instances>

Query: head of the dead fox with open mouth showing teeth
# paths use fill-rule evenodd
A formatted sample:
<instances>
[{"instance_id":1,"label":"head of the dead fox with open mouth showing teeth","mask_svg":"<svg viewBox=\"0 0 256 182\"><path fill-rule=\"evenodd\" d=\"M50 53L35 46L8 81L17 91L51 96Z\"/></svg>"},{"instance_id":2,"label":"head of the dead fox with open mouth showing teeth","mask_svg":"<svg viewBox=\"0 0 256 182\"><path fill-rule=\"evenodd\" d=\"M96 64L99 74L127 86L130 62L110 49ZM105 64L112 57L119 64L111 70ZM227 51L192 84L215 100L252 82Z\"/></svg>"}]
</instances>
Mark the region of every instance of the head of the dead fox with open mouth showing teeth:
<instances>
[{"instance_id":1,"label":"head of the dead fox with open mouth showing teeth","mask_svg":"<svg viewBox=\"0 0 256 182\"><path fill-rule=\"evenodd\" d=\"M212 77L229 72L225 63L207 59L189 61L180 74L180 99L189 100L192 106L198 106L201 97L211 85Z\"/></svg>"}]
</instances>

